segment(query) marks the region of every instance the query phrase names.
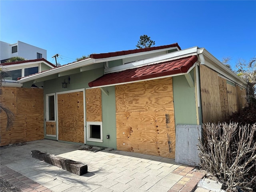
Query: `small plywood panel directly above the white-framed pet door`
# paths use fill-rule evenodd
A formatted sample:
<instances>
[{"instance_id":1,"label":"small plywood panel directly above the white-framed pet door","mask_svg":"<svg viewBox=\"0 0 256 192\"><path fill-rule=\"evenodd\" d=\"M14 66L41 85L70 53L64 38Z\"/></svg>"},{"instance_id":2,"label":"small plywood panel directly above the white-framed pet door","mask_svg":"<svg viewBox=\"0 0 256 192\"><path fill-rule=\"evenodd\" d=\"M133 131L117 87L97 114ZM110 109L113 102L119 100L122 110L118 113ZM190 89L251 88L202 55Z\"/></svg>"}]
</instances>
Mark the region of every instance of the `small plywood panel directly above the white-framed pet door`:
<instances>
[{"instance_id":1,"label":"small plywood panel directly above the white-framed pet door","mask_svg":"<svg viewBox=\"0 0 256 192\"><path fill-rule=\"evenodd\" d=\"M100 88L86 89L86 121L102 122L102 103Z\"/></svg>"}]
</instances>

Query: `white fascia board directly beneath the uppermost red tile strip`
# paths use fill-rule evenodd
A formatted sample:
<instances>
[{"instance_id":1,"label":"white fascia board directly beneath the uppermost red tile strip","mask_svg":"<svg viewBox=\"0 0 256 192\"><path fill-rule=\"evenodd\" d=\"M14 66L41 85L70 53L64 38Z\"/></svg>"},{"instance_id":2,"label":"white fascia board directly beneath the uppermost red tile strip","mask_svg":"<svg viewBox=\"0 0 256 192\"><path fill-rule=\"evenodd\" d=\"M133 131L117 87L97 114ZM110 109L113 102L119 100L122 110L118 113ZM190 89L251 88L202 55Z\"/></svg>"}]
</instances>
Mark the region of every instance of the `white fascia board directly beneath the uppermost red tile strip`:
<instances>
[{"instance_id":1,"label":"white fascia board directly beneath the uppermost red tile strip","mask_svg":"<svg viewBox=\"0 0 256 192\"><path fill-rule=\"evenodd\" d=\"M152 51L138 52L138 53L132 53L132 54L127 54L127 55L120 55L120 56L108 57L108 58L102 58L102 59L95 59L95 60L97 60L99 62L107 62L107 61L114 61L114 60L129 58L129 57L152 54L152 53L157 53L157 52L162 52L162 51L167 51L167 50L172 50L172 49L177 49L179 51L178 47L169 47L169 48L165 48L165 49L157 49L157 50L152 50Z\"/></svg>"}]
</instances>

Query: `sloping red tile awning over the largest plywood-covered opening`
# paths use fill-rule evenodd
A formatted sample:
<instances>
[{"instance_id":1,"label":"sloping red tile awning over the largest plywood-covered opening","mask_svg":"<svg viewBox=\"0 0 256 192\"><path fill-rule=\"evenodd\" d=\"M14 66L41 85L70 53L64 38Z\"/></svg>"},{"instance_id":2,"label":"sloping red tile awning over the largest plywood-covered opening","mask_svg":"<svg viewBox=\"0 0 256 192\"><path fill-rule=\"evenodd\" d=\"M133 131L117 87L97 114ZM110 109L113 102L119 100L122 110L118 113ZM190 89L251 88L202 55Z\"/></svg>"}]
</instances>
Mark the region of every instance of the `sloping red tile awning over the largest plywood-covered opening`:
<instances>
[{"instance_id":1,"label":"sloping red tile awning over the largest plywood-covered opening","mask_svg":"<svg viewBox=\"0 0 256 192\"><path fill-rule=\"evenodd\" d=\"M179 73L186 73L198 60L197 56L189 56L177 60L171 60L142 66L139 68L128 69L121 72L104 74L100 78L89 82L90 87L111 85L137 80L145 80L161 76L168 76Z\"/></svg>"}]
</instances>

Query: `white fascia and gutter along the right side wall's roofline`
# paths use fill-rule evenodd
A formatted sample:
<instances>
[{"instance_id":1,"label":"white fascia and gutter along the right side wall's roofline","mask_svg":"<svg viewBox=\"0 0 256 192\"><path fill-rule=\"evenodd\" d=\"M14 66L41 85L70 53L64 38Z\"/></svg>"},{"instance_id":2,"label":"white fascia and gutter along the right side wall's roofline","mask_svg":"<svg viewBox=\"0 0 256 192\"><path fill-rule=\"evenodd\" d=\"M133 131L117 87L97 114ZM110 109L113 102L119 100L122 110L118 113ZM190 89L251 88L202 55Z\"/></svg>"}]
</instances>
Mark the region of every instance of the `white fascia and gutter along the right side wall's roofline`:
<instances>
[{"instance_id":1,"label":"white fascia and gutter along the right side wall's roofline","mask_svg":"<svg viewBox=\"0 0 256 192\"><path fill-rule=\"evenodd\" d=\"M244 87L246 82L242 80L237 74L235 74L232 70L230 70L228 67L226 67L222 62L220 62L218 59L216 59L210 52L208 52L205 48L198 49L199 58L200 54L204 56L204 62L201 62L201 64L204 64L208 66L209 68L215 70L219 74L225 76L226 78L230 79L231 81L235 82L236 84ZM209 59L212 62L207 62L206 60ZM214 64L212 64L214 63Z\"/></svg>"}]
</instances>

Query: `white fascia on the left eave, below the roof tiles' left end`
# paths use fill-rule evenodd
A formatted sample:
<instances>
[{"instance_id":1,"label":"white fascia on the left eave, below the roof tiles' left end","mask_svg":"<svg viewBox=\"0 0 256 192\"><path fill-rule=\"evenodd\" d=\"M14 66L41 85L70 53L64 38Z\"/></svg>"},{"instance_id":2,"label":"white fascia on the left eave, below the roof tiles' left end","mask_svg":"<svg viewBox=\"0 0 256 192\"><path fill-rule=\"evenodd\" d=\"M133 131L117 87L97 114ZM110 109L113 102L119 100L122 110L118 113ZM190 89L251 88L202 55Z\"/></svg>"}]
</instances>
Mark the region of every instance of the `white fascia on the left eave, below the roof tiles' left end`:
<instances>
[{"instance_id":1,"label":"white fascia on the left eave, below the roof tiles' left end","mask_svg":"<svg viewBox=\"0 0 256 192\"><path fill-rule=\"evenodd\" d=\"M41 73L38 73L38 74L34 74L34 75L31 75L31 76L24 77L24 78L18 80L18 82L20 82L20 83L28 82L28 81L31 81L31 80L35 80L35 79L38 79L38 78L45 77L45 76L53 75L53 74L56 74L56 73L72 70L72 69L75 69L75 68L80 68L82 66L87 66L87 65L90 65L90 64L93 64L93 63L95 63L95 59L88 58L86 60L78 61L78 62L71 63L71 64L68 64L68 65L60 66L58 68L54 68L52 70L48 70L48 71L45 71L45 72L41 72Z\"/></svg>"}]
</instances>

